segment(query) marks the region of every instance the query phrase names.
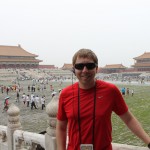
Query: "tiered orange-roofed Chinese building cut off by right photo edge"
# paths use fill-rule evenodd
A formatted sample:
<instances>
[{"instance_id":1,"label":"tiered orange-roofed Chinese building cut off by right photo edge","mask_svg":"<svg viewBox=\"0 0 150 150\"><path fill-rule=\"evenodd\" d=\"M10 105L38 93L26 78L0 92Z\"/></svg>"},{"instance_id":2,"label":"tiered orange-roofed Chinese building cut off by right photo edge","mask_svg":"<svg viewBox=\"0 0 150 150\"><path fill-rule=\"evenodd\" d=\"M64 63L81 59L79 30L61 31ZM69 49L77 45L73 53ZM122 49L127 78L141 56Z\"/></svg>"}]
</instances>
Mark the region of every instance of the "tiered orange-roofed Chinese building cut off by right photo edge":
<instances>
[{"instance_id":1,"label":"tiered orange-roofed Chinese building cut off by right photo edge","mask_svg":"<svg viewBox=\"0 0 150 150\"><path fill-rule=\"evenodd\" d=\"M135 63L132 67L134 67L136 71L150 71L150 52L145 52L133 59L135 60Z\"/></svg>"}]
</instances>

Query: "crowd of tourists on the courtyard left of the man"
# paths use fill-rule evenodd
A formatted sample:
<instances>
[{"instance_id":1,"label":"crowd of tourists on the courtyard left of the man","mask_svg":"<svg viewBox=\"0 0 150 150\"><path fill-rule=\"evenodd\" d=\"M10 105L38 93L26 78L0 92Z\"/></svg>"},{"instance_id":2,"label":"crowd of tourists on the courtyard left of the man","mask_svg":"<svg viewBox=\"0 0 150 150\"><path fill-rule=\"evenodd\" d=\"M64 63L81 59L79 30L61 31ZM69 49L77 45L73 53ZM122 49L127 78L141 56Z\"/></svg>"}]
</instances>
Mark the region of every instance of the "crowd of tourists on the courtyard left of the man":
<instances>
[{"instance_id":1,"label":"crowd of tourists on the courtyard left of the man","mask_svg":"<svg viewBox=\"0 0 150 150\"><path fill-rule=\"evenodd\" d=\"M57 82L60 89L55 90L53 83L48 80L33 79L29 82L31 85L26 86L23 82L26 81L22 81L21 84L0 85L1 97L3 97L3 100L0 101L2 112L8 110L13 100L21 109L29 107L31 110L44 110L46 102L49 102L56 93L60 92L63 83L62 81Z\"/></svg>"}]
</instances>

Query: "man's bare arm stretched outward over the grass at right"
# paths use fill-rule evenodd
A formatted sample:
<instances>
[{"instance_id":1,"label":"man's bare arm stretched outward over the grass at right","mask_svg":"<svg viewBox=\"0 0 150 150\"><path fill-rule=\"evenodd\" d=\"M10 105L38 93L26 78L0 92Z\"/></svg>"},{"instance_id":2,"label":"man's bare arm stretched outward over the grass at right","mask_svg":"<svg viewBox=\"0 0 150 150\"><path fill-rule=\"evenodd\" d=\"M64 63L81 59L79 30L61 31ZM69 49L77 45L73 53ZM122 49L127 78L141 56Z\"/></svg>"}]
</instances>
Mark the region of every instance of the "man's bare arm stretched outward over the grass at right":
<instances>
[{"instance_id":1,"label":"man's bare arm stretched outward over the grass at right","mask_svg":"<svg viewBox=\"0 0 150 150\"><path fill-rule=\"evenodd\" d=\"M144 131L139 121L131 112L126 112L125 114L121 115L120 118L124 121L127 127L145 144L150 143L150 136Z\"/></svg>"}]
</instances>

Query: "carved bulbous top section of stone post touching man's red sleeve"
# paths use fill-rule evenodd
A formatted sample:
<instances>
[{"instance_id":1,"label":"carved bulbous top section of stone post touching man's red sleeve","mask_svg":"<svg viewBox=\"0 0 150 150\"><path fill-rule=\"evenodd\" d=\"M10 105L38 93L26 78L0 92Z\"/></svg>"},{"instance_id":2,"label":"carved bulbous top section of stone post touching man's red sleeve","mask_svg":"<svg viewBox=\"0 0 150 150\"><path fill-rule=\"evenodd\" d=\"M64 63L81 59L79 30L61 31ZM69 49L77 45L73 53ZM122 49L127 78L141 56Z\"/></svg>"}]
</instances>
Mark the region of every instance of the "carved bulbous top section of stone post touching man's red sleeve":
<instances>
[{"instance_id":1,"label":"carved bulbous top section of stone post touching man's red sleeve","mask_svg":"<svg viewBox=\"0 0 150 150\"><path fill-rule=\"evenodd\" d=\"M56 115L58 109L58 99L59 95L55 95L50 103L46 106L46 112L49 116L48 124L49 127L47 128L47 134L50 136L56 137Z\"/></svg>"}]
</instances>

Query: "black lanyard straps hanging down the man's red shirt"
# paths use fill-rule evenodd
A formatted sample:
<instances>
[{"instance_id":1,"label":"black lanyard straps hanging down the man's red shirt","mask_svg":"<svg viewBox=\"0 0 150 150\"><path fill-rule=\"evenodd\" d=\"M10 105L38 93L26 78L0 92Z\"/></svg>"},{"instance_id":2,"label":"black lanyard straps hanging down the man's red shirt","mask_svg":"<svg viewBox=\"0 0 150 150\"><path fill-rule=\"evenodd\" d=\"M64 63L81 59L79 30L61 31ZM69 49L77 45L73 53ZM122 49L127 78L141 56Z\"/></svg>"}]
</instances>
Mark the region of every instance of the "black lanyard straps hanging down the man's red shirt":
<instances>
[{"instance_id":1,"label":"black lanyard straps hanging down the man's red shirt","mask_svg":"<svg viewBox=\"0 0 150 150\"><path fill-rule=\"evenodd\" d=\"M92 144L94 149L94 129L95 129L95 110L96 110L96 84L94 87L94 106L93 106L93 128L92 128ZM81 140L81 120L80 120L80 88L78 86L78 126L79 126L79 142L82 144Z\"/></svg>"}]
</instances>

